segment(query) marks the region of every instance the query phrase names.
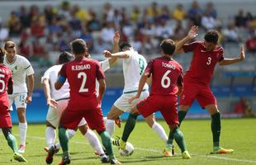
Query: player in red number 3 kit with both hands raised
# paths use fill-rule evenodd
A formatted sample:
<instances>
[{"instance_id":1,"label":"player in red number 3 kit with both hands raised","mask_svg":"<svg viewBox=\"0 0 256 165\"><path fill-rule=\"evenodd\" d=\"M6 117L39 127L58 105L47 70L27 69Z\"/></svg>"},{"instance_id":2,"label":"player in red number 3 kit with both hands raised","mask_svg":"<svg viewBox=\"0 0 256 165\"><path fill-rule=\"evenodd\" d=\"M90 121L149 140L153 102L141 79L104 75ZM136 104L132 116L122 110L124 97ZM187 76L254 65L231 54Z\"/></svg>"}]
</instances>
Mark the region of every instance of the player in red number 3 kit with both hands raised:
<instances>
[{"instance_id":1,"label":"player in red number 3 kit with both hands raised","mask_svg":"<svg viewBox=\"0 0 256 165\"><path fill-rule=\"evenodd\" d=\"M207 31L203 41L185 44L197 36L192 31L197 31L197 26L192 26L188 35L177 45L178 53L193 52L191 66L184 75L184 89L180 100L180 111L178 111L179 123L183 122L192 102L197 99L200 106L208 110L211 115L212 153L233 153L233 149L220 147L220 111L216 97L211 92L210 82L216 64L223 66L244 60L244 47L241 47L239 58L225 59L224 50L218 45L217 31Z\"/></svg>"}]
</instances>

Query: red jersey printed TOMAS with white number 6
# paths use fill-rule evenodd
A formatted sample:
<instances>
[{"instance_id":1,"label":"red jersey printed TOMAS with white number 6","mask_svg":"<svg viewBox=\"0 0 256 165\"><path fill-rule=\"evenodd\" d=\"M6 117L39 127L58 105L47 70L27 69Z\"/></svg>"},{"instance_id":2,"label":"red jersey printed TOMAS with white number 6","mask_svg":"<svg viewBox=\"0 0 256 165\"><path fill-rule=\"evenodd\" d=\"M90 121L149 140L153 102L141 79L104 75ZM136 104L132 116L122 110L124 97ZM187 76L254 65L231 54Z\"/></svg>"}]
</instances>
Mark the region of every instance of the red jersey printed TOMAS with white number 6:
<instances>
[{"instance_id":1,"label":"red jersey printed TOMAS with white number 6","mask_svg":"<svg viewBox=\"0 0 256 165\"><path fill-rule=\"evenodd\" d=\"M183 86L183 67L174 59L159 57L151 59L145 72L152 73L150 95L175 95Z\"/></svg>"}]
</instances>

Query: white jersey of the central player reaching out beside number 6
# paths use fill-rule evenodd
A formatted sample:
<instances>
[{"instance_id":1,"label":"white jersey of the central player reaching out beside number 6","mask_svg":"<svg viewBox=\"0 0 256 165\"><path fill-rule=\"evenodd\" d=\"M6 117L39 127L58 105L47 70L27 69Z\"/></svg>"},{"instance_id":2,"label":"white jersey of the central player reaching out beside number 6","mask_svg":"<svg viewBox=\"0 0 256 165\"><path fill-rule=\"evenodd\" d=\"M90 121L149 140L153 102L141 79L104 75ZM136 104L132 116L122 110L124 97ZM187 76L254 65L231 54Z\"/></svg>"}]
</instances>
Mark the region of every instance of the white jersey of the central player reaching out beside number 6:
<instances>
[{"instance_id":1,"label":"white jersey of the central player reaching out beside number 6","mask_svg":"<svg viewBox=\"0 0 256 165\"><path fill-rule=\"evenodd\" d=\"M123 59L123 73L125 79L124 92L136 92L139 87L141 74L147 67L146 59L135 50L128 50L130 57ZM146 83L144 89L148 89Z\"/></svg>"}]
</instances>

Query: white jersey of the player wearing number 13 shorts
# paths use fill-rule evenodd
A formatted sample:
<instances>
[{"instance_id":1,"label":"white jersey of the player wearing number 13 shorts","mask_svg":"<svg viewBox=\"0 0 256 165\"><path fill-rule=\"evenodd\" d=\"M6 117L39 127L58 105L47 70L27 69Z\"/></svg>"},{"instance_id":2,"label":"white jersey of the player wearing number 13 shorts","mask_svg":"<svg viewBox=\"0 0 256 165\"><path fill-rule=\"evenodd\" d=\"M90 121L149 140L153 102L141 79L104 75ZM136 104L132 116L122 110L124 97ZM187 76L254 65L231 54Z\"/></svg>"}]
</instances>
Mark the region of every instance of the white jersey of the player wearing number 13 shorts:
<instances>
[{"instance_id":1,"label":"white jersey of the player wearing number 13 shorts","mask_svg":"<svg viewBox=\"0 0 256 165\"><path fill-rule=\"evenodd\" d=\"M4 57L3 64L12 70L13 93L27 92L26 76L34 74L31 63L23 56L16 54L15 59L10 64L7 57Z\"/></svg>"}]
</instances>

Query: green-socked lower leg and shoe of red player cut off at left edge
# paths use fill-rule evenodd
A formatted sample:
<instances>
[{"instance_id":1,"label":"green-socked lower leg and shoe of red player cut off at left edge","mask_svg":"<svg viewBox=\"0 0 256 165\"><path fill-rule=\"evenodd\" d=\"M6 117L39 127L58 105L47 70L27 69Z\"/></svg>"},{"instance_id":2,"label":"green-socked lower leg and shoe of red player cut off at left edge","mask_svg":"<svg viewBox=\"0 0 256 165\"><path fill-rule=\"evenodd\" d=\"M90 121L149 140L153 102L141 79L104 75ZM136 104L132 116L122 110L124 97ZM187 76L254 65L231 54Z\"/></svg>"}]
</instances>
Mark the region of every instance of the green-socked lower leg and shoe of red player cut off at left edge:
<instances>
[{"instance_id":1,"label":"green-socked lower leg and shoe of red player cut off at left edge","mask_svg":"<svg viewBox=\"0 0 256 165\"><path fill-rule=\"evenodd\" d=\"M4 135L5 139L7 139L7 143L12 148L13 151L13 158L18 162L26 162L26 159L18 153L17 148L17 141L16 138L12 135L12 128L2 128L2 134Z\"/></svg>"}]
</instances>

